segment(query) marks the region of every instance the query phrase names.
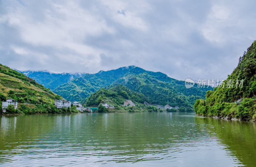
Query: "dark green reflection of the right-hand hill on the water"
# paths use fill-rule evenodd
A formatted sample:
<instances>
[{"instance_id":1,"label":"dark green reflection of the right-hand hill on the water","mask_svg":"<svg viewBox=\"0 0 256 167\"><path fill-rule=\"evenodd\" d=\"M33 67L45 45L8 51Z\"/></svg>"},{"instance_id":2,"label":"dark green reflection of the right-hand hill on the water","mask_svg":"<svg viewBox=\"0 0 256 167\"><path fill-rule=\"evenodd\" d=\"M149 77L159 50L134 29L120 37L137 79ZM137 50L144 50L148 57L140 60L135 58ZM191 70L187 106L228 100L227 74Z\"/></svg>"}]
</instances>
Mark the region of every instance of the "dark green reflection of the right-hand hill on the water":
<instances>
[{"instance_id":1,"label":"dark green reflection of the right-hand hill on the water","mask_svg":"<svg viewBox=\"0 0 256 167\"><path fill-rule=\"evenodd\" d=\"M208 130L228 146L244 165L256 164L256 125L253 122L231 121L216 118L195 118L195 122L208 125Z\"/></svg>"}]
</instances>

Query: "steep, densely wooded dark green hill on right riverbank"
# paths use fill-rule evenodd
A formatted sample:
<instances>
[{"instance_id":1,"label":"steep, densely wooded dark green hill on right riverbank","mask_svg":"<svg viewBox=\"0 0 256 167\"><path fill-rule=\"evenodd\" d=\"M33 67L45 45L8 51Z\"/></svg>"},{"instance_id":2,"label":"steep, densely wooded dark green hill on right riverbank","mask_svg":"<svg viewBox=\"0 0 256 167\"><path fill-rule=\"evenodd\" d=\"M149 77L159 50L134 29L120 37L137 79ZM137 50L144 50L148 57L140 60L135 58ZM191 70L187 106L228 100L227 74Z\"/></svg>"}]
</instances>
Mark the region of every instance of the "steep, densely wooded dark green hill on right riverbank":
<instances>
[{"instance_id":1,"label":"steep, densely wooded dark green hill on right riverbank","mask_svg":"<svg viewBox=\"0 0 256 167\"><path fill-rule=\"evenodd\" d=\"M197 114L220 118L256 118L256 41L239 58L239 63L227 80L213 91L207 91L206 100L196 100Z\"/></svg>"}]
</instances>

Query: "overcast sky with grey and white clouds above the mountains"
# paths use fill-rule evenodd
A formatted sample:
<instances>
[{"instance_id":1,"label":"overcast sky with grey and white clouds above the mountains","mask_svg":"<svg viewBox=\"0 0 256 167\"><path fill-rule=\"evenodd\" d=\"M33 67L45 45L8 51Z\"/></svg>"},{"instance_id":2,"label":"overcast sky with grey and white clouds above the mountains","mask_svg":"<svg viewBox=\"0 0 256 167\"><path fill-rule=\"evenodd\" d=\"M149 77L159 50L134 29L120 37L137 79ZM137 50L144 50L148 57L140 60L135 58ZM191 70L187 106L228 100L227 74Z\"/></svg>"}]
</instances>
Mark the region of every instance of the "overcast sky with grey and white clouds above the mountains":
<instances>
[{"instance_id":1,"label":"overcast sky with grey and white clouds above the mountains","mask_svg":"<svg viewBox=\"0 0 256 167\"><path fill-rule=\"evenodd\" d=\"M86 72L135 65L226 79L256 40L255 0L0 0L0 63Z\"/></svg>"}]
</instances>

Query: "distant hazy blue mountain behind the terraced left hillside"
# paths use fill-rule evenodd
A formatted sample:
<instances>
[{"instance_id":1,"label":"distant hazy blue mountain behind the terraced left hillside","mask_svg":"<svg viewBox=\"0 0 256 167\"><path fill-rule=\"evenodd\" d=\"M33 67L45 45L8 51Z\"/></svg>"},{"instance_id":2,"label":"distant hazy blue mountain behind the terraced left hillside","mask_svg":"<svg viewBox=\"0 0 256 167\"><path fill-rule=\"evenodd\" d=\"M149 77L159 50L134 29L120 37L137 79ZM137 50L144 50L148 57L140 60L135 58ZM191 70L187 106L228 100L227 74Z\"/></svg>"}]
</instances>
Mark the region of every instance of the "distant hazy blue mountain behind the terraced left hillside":
<instances>
[{"instance_id":1,"label":"distant hazy blue mountain behind the terraced left hillside","mask_svg":"<svg viewBox=\"0 0 256 167\"><path fill-rule=\"evenodd\" d=\"M85 73L52 73L49 71L19 71L29 78L33 78L36 82L42 84L44 87L55 89L61 84L67 83L78 77L83 77Z\"/></svg>"}]
</instances>

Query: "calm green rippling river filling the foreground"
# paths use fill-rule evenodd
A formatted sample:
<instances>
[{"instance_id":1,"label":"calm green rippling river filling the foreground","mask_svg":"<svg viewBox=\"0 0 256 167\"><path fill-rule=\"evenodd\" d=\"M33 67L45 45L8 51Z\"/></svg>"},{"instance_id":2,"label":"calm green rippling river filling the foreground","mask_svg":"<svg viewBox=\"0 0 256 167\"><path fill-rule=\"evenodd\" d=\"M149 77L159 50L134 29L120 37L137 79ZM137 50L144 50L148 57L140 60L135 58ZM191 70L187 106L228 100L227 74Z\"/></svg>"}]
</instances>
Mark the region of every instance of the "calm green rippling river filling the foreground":
<instances>
[{"instance_id":1,"label":"calm green rippling river filling the foreground","mask_svg":"<svg viewBox=\"0 0 256 167\"><path fill-rule=\"evenodd\" d=\"M256 124L195 113L0 116L0 166L255 166Z\"/></svg>"}]
</instances>

